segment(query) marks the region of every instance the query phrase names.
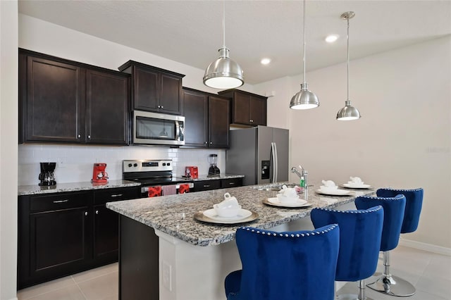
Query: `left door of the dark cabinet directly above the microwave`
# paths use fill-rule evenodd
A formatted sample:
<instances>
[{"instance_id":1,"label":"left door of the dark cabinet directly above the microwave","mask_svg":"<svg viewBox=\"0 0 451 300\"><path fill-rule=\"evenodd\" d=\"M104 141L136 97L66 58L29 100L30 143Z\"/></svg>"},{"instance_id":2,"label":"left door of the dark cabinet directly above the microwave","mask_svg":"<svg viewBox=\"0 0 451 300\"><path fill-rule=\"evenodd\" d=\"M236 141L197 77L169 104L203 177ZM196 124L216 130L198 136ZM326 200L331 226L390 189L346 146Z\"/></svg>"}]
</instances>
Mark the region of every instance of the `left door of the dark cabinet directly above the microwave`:
<instances>
[{"instance_id":1,"label":"left door of the dark cabinet directly above the microwave","mask_svg":"<svg viewBox=\"0 0 451 300\"><path fill-rule=\"evenodd\" d=\"M134 67L133 107L143 111L159 111L159 72Z\"/></svg>"}]
</instances>

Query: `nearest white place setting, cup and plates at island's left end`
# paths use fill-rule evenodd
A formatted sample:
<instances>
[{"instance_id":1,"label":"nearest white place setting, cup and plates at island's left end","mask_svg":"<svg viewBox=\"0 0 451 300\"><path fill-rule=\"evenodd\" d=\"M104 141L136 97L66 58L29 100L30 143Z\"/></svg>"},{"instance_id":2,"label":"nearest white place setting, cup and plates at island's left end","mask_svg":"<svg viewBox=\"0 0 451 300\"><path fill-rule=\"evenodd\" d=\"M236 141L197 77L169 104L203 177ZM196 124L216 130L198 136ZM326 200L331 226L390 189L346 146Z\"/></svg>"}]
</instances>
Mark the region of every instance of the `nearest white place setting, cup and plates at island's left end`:
<instances>
[{"instance_id":1,"label":"nearest white place setting, cup and plates at island's left end","mask_svg":"<svg viewBox=\"0 0 451 300\"><path fill-rule=\"evenodd\" d=\"M248 211L238 204L235 196L224 194L224 200L214 204L213 208L194 213L194 219L216 224L239 224L256 220L258 213Z\"/></svg>"}]
</instances>

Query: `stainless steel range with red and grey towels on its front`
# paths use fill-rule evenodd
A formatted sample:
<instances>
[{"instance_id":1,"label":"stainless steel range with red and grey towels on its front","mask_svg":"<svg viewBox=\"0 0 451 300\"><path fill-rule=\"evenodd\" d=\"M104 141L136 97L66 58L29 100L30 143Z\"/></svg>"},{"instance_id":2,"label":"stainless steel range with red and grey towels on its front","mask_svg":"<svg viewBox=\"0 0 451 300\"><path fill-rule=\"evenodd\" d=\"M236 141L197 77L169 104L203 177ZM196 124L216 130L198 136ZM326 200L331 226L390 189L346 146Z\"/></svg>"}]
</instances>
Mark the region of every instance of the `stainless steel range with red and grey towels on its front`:
<instances>
[{"instance_id":1,"label":"stainless steel range with red and grey towels on its front","mask_svg":"<svg viewBox=\"0 0 451 300\"><path fill-rule=\"evenodd\" d=\"M189 187L192 192L194 188L192 180L173 177L172 159L125 160L122 162L122 177L124 180L140 182L143 197L148 196L153 187L163 187L163 196L165 190L175 190L175 194L179 194L180 185L183 191Z\"/></svg>"}]
</instances>

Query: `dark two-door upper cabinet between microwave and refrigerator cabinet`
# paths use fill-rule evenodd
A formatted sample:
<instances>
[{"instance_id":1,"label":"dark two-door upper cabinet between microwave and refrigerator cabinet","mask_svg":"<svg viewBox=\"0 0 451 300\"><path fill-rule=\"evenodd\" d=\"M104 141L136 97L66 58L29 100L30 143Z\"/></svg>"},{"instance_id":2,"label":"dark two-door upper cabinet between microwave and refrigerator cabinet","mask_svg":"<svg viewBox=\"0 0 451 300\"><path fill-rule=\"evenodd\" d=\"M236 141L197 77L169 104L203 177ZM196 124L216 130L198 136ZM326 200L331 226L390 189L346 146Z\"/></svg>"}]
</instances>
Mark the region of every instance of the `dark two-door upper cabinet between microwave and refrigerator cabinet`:
<instances>
[{"instance_id":1,"label":"dark two-door upper cabinet between microwave and refrigerator cabinet","mask_svg":"<svg viewBox=\"0 0 451 300\"><path fill-rule=\"evenodd\" d=\"M228 148L229 99L184 87L183 115L185 146Z\"/></svg>"}]
</instances>

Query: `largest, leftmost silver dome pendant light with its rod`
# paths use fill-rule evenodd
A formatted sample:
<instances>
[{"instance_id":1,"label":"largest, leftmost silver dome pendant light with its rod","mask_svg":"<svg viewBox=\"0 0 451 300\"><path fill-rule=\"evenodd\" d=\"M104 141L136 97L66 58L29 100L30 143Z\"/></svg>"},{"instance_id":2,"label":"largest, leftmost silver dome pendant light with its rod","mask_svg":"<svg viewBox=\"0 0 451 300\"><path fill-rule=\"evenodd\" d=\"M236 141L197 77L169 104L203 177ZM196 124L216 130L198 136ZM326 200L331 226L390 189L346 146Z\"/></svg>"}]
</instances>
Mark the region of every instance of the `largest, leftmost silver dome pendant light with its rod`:
<instances>
[{"instance_id":1,"label":"largest, leftmost silver dome pendant light with its rod","mask_svg":"<svg viewBox=\"0 0 451 300\"><path fill-rule=\"evenodd\" d=\"M223 1L223 47L218 51L219 57L205 70L204 85L214 89L233 89L244 85L242 69L229 58L226 47L226 1Z\"/></svg>"}]
</instances>

